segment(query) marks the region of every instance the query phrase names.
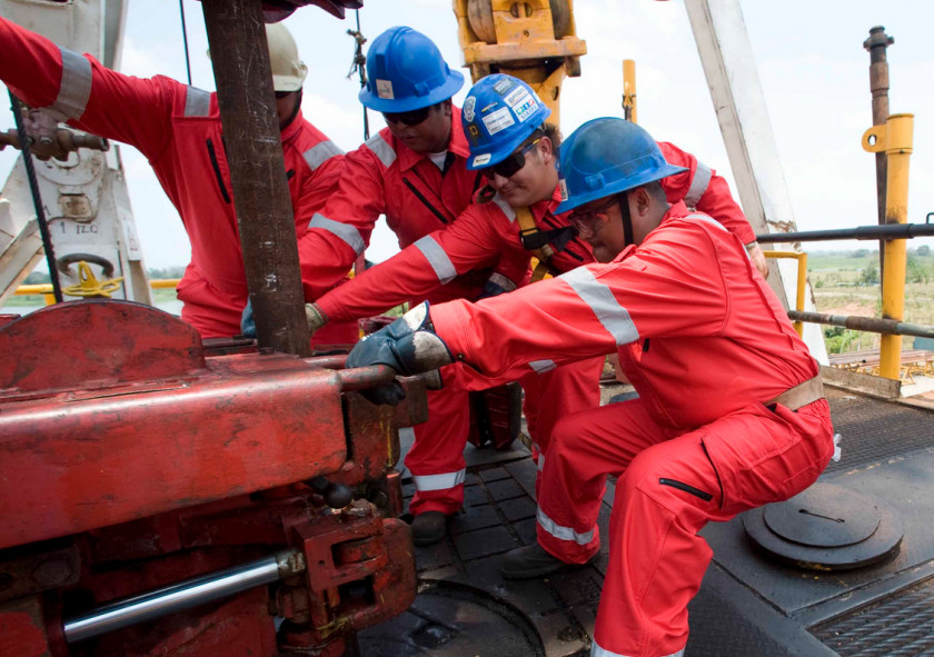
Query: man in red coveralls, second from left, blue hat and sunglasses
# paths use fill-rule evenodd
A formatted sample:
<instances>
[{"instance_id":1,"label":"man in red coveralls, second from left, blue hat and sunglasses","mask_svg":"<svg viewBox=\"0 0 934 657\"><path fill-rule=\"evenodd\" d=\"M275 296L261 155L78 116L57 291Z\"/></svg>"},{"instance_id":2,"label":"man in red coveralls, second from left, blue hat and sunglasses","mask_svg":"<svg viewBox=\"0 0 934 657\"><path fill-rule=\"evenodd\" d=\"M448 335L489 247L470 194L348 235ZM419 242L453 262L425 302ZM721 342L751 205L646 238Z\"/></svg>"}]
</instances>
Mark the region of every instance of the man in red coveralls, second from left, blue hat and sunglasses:
<instances>
[{"instance_id":1,"label":"man in red coveralls, second from left, blue hat and sunglasses","mask_svg":"<svg viewBox=\"0 0 934 657\"><path fill-rule=\"evenodd\" d=\"M326 268L331 275L346 270L369 242L380 215L386 216L400 247L424 247L428 243L425 236L453 222L480 186L481 176L467 168L469 150L460 109L451 102L464 76L448 67L430 39L407 27L381 33L367 52L367 78L360 101L381 112L387 127L347 155L337 193L311 219L312 230L299 240L305 281L327 273ZM477 299L485 286L499 289L526 273L525 263L508 276L496 269L493 259L483 267L461 270L460 276L440 282L436 279L431 288L378 303L372 312L348 313L345 319L376 315L406 301ZM372 277L364 277L372 281ZM311 328L320 327L314 317ZM415 444L406 458L416 488L409 510L415 515L417 545L441 540L447 517L464 504L463 457L459 461L449 458L447 446L457 445L463 451L466 445L468 392L454 388L429 391L428 409L428 421L414 428Z\"/></svg>"}]
</instances>

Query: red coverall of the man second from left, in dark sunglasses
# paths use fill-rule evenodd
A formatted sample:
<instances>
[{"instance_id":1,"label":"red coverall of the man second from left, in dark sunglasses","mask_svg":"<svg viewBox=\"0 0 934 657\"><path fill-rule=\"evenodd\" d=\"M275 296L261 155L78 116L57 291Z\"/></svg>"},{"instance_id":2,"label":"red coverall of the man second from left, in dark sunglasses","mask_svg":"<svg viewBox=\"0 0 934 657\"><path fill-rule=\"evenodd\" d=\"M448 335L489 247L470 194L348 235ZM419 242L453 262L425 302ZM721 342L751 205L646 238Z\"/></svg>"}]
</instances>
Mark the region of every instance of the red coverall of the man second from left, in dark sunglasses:
<instances>
[{"instance_id":1,"label":"red coverall of the man second from left, in dark sunglasses","mask_svg":"<svg viewBox=\"0 0 934 657\"><path fill-rule=\"evenodd\" d=\"M398 141L388 128L345 157L338 191L311 219L308 235L299 240L304 270L336 276L362 253L380 215L406 248L454 219L470 203L480 175L467 170L469 151L460 127L460 109L451 108L451 137L447 159L439 168L427 155ZM475 299L494 273L496 260L484 268L451 276L446 285L403 295L378 303L371 312L328 317L331 321L356 320L410 301L433 303ZM480 270L483 269L483 270ZM310 277L304 275L302 279ZM360 276L357 279L371 279ZM430 292L430 293L429 293ZM316 334L317 335L317 334ZM464 500L464 466L449 467L444 446L456 442L463 450L469 431L467 391L453 388L428 394L428 421L415 427L416 441L406 458L416 485L413 512L453 514ZM430 436L429 439L425 439ZM439 458L438 455L441 455Z\"/></svg>"}]
</instances>

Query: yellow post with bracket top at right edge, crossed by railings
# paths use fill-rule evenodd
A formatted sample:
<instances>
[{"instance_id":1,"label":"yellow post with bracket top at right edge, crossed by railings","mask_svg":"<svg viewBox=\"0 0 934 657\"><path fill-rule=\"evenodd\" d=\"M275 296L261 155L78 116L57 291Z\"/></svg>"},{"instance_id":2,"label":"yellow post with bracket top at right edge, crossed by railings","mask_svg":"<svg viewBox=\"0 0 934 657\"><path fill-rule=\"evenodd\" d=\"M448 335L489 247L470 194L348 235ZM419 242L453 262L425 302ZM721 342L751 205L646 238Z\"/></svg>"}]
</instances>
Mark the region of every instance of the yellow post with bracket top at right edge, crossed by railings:
<instances>
[{"instance_id":1,"label":"yellow post with bracket top at right edge, crossed by railings","mask_svg":"<svg viewBox=\"0 0 934 657\"><path fill-rule=\"evenodd\" d=\"M906 223L908 218L908 162L912 155L914 115L890 115L884 126L873 126L863 133L863 149L885 152L888 173L885 188L885 222ZM905 240L885 241L882 272L882 317L901 321L905 309ZM902 336L883 334L880 344L878 374L900 378Z\"/></svg>"}]
</instances>

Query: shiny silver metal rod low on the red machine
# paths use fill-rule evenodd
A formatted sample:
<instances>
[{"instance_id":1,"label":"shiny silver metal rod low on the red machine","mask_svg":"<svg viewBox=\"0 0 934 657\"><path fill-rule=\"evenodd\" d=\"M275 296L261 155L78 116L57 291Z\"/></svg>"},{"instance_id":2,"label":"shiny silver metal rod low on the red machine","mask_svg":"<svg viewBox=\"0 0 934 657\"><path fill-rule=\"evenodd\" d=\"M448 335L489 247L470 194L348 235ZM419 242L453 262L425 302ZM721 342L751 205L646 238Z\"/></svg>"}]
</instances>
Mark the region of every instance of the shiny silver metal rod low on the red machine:
<instances>
[{"instance_id":1,"label":"shiny silver metal rod low on the red machine","mask_svg":"<svg viewBox=\"0 0 934 657\"><path fill-rule=\"evenodd\" d=\"M64 621L69 644L161 618L211 600L277 581L305 570L305 557L298 550L282 550L264 559L187 579L172 586L133 596L92 609Z\"/></svg>"}]
</instances>

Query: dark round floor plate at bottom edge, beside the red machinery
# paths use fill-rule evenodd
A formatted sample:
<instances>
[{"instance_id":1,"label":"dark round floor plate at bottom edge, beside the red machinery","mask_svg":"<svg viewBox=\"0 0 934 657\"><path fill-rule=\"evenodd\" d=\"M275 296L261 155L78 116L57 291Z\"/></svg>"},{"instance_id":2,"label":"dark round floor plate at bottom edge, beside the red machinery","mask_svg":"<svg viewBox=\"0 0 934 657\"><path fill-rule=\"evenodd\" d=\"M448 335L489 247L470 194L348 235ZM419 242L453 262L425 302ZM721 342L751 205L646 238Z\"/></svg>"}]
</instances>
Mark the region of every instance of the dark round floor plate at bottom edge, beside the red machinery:
<instances>
[{"instance_id":1,"label":"dark round floor plate at bottom edge, beside the red machinery","mask_svg":"<svg viewBox=\"0 0 934 657\"><path fill-rule=\"evenodd\" d=\"M357 635L367 657L545 657L531 621L479 589L420 581L404 614Z\"/></svg>"}]
</instances>

